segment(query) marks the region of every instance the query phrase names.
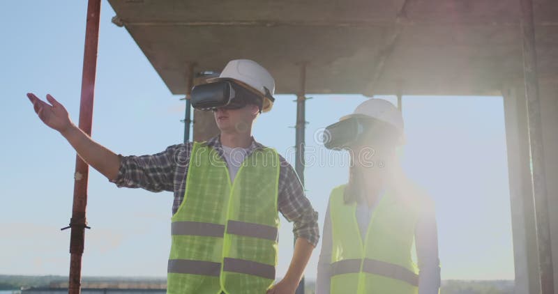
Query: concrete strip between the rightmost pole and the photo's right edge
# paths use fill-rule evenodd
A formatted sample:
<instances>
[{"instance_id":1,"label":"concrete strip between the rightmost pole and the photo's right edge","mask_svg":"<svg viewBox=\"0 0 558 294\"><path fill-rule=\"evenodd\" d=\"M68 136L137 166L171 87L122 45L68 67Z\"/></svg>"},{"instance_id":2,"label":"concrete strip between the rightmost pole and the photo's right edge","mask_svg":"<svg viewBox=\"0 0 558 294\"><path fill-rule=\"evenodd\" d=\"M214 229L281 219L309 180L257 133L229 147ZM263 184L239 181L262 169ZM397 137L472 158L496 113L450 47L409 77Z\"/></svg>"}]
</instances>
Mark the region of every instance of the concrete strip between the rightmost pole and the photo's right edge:
<instances>
[{"instance_id":1,"label":"concrete strip between the rightmost pole and the photo's right edge","mask_svg":"<svg viewBox=\"0 0 558 294\"><path fill-rule=\"evenodd\" d=\"M558 285L558 79L539 79L539 100L552 242L554 284ZM558 294L558 287L555 288Z\"/></svg>"}]
</instances>

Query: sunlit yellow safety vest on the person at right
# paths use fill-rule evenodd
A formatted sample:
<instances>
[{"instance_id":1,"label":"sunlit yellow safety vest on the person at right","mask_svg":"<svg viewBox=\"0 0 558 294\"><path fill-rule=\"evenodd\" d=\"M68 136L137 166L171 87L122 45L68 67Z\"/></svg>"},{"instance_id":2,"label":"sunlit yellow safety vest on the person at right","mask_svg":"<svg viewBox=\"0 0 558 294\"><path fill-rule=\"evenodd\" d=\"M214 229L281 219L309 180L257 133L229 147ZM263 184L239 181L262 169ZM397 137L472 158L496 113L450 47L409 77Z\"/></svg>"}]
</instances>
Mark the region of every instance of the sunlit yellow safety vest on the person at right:
<instances>
[{"instance_id":1,"label":"sunlit yellow safety vest on the person at right","mask_svg":"<svg viewBox=\"0 0 558 294\"><path fill-rule=\"evenodd\" d=\"M416 294L418 270L411 250L417 214L412 205L387 192L372 212L365 238L361 238L356 203L345 204L344 190L345 185L335 187L329 200L331 293Z\"/></svg>"}]
</instances>

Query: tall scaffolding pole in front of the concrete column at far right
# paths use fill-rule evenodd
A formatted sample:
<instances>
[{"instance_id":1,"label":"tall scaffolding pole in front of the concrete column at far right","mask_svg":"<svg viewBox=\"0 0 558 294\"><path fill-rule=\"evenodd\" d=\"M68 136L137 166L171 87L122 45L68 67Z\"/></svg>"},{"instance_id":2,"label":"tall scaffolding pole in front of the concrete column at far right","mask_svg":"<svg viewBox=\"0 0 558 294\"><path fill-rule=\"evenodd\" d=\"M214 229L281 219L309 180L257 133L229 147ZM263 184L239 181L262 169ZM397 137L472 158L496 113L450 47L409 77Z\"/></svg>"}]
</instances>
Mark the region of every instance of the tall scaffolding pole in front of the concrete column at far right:
<instances>
[{"instance_id":1,"label":"tall scaffolding pole in front of the concrete column at far right","mask_svg":"<svg viewBox=\"0 0 558 294\"><path fill-rule=\"evenodd\" d=\"M552 245L550 240L550 218L548 215L548 194L546 191L541 106L538 100L533 1L520 0L520 6L523 73L525 77L525 95L527 97L527 121L529 124L529 144L531 146L541 293L554 294L554 271L552 269Z\"/></svg>"}]
</instances>

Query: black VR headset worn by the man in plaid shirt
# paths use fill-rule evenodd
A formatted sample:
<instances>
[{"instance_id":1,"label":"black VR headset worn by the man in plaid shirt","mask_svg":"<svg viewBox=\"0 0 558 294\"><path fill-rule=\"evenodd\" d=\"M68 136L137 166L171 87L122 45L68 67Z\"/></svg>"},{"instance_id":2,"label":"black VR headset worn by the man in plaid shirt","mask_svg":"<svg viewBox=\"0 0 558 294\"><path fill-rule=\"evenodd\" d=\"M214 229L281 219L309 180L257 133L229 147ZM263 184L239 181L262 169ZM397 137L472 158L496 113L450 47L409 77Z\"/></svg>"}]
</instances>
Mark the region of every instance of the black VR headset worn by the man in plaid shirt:
<instances>
[{"instance_id":1,"label":"black VR headset worn by the man in plaid shirt","mask_svg":"<svg viewBox=\"0 0 558 294\"><path fill-rule=\"evenodd\" d=\"M275 100L269 90L266 90L266 98L272 102ZM241 86L231 80L220 80L209 84L200 84L192 89L190 98L192 106L199 110L239 109L248 104L257 105L262 111L264 98L254 91Z\"/></svg>"}]
</instances>

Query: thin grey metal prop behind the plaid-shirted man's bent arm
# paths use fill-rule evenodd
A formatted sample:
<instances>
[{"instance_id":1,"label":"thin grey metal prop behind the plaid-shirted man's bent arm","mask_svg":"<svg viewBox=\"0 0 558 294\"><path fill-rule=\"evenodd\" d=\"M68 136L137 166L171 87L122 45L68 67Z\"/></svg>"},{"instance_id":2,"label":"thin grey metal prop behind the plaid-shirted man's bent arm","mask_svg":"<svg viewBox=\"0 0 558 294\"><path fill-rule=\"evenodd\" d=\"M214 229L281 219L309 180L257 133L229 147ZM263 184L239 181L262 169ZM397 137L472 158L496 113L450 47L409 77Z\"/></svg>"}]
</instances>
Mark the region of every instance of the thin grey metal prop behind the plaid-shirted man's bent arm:
<instances>
[{"instance_id":1,"label":"thin grey metal prop behind the plaid-shirted man's bent arm","mask_svg":"<svg viewBox=\"0 0 558 294\"><path fill-rule=\"evenodd\" d=\"M300 63L301 77L300 90L296 95L296 160L294 170L299 175L301 183L304 187L304 135L306 129L306 63ZM296 243L296 239L294 240ZM304 277L302 277L299 288L296 288L296 294L304 294Z\"/></svg>"}]
</instances>

